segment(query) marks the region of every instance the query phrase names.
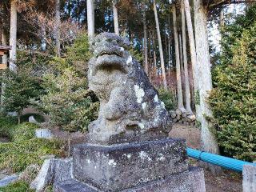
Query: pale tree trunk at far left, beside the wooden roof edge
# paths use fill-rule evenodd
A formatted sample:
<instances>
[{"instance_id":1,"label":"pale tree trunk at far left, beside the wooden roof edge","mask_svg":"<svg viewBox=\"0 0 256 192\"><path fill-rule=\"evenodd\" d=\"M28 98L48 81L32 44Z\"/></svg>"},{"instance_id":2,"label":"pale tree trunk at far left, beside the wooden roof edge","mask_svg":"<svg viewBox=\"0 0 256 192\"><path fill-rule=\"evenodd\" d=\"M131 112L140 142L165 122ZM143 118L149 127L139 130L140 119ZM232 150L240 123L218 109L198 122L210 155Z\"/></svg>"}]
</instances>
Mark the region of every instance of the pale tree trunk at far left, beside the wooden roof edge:
<instances>
[{"instance_id":1,"label":"pale tree trunk at far left, beside the wooden roof edge","mask_svg":"<svg viewBox=\"0 0 256 192\"><path fill-rule=\"evenodd\" d=\"M16 72L16 54L17 54L17 4L16 1L10 2L10 70Z\"/></svg>"}]
</instances>

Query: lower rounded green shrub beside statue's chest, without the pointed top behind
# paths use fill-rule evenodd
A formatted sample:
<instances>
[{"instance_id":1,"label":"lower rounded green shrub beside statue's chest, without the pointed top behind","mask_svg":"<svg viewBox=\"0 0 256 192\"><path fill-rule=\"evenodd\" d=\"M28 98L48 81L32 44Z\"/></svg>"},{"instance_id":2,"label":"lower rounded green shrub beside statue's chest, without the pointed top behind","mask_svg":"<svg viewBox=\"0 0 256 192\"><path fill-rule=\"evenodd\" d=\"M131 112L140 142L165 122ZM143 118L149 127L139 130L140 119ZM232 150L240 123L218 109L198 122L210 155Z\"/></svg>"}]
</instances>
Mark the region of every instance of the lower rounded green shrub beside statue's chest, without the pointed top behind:
<instances>
[{"instance_id":1,"label":"lower rounded green shrub beside statue's chest, without the pointed top behind","mask_svg":"<svg viewBox=\"0 0 256 192\"><path fill-rule=\"evenodd\" d=\"M66 68L58 76L47 75L44 84L47 94L42 96L40 106L54 125L70 132L86 130L98 111L98 102L94 102L86 79Z\"/></svg>"}]
</instances>

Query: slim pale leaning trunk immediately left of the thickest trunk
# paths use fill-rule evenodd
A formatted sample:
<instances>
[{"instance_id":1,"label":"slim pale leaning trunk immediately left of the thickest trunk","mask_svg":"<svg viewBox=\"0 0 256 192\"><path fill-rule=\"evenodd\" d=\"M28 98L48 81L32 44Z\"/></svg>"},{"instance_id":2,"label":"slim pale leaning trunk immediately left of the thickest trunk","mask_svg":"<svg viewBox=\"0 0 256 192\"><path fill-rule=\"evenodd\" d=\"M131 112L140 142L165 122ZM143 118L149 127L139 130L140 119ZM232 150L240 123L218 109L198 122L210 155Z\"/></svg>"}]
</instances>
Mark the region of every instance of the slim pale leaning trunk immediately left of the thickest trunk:
<instances>
[{"instance_id":1,"label":"slim pale leaning trunk immediately left of the thickest trunk","mask_svg":"<svg viewBox=\"0 0 256 192\"><path fill-rule=\"evenodd\" d=\"M194 42L194 30L192 25L191 13L190 13L190 3L189 0L184 0L185 12L186 12L186 25L188 30L188 35L190 39L190 57L192 62L192 72L193 72L193 84L194 84L194 95L193 100L195 101L196 117L198 122L201 122L202 119L202 110L200 109L200 103L198 99L198 63L197 63L197 54L195 50Z\"/></svg>"}]
</instances>

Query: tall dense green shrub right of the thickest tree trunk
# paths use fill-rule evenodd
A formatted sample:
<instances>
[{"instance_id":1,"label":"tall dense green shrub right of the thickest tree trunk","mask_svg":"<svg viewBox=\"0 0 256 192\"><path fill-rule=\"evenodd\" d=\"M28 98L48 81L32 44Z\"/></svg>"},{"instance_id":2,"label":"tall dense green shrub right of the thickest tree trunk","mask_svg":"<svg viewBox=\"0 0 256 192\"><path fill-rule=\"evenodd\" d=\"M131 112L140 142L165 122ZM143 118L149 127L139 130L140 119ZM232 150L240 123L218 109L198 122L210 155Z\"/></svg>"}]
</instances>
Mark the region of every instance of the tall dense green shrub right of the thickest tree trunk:
<instances>
[{"instance_id":1,"label":"tall dense green shrub right of the thickest tree trunk","mask_svg":"<svg viewBox=\"0 0 256 192\"><path fill-rule=\"evenodd\" d=\"M256 6L226 26L210 106L224 154L256 159Z\"/></svg>"}]
</instances>

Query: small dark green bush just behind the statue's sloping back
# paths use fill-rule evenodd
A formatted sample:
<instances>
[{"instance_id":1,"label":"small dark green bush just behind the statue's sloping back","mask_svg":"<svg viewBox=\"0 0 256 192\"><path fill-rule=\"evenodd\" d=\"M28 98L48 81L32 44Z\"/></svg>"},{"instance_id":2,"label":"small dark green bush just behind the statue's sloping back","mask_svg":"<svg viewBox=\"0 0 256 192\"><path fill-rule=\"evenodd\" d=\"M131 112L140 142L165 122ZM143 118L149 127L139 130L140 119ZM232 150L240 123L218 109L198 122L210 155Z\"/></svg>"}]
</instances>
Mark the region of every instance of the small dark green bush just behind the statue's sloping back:
<instances>
[{"instance_id":1,"label":"small dark green bush just behind the statue's sloping back","mask_svg":"<svg viewBox=\"0 0 256 192\"><path fill-rule=\"evenodd\" d=\"M174 94L171 90L165 90L163 88L158 89L159 98L166 105L166 110L174 110L177 108L177 102L174 98Z\"/></svg>"}]
</instances>

